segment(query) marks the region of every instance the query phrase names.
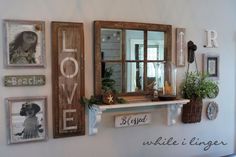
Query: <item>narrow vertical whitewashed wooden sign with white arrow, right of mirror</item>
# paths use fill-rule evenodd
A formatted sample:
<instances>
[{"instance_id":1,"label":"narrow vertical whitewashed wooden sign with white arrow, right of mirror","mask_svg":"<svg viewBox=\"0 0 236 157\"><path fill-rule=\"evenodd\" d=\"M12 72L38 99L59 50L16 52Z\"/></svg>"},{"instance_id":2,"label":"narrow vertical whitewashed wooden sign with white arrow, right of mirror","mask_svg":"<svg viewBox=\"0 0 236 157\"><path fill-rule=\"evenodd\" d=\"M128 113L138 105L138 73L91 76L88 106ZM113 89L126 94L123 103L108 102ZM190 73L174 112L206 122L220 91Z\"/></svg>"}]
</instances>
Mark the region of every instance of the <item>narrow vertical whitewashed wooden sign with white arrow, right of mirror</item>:
<instances>
[{"instance_id":1,"label":"narrow vertical whitewashed wooden sign with white arrow, right of mirror","mask_svg":"<svg viewBox=\"0 0 236 157\"><path fill-rule=\"evenodd\" d=\"M176 28L176 66L185 66L186 58L186 40L185 40L185 28Z\"/></svg>"}]
</instances>

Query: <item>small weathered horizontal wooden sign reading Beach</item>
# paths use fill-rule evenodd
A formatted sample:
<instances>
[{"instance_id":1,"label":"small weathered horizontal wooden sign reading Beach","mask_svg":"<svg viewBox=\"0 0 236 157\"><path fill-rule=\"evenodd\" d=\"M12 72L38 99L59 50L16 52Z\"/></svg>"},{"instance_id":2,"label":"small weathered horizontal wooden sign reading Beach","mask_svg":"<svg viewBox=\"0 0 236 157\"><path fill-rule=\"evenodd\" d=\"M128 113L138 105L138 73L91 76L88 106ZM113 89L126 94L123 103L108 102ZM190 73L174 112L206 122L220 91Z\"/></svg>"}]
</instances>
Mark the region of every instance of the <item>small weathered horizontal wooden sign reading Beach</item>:
<instances>
[{"instance_id":1,"label":"small weathered horizontal wooden sign reading Beach","mask_svg":"<svg viewBox=\"0 0 236 157\"><path fill-rule=\"evenodd\" d=\"M4 86L43 86L45 85L45 75L8 75L4 76Z\"/></svg>"}]
</instances>

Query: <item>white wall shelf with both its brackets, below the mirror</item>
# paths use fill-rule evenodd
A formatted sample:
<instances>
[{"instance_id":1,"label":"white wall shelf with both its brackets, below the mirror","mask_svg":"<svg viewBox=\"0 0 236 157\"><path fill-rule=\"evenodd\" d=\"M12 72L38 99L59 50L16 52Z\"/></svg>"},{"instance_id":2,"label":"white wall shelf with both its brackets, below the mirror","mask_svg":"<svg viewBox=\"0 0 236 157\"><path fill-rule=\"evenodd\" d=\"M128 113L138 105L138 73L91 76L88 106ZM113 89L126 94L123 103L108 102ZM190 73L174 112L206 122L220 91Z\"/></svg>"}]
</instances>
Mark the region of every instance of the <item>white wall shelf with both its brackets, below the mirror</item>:
<instances>
[{"instance_id":1,"label":"white wall shelf with both its brackets, below the mirror","mask_svg":"<svg viewBox=\"0 0 236 157\"><path fill-rule=\"evenodd\" d=\"M180 114L180 109L183 104L188 103L188 99L180 99L173 101L156 101L156 102L137 102L130 104L116 104L116 105L93 105L89 109L89 135L98 133L98 126L102 120L102 112L105 110L125 109L133 107L147 107L147 106L167 106L167 125L171 126L176 123L176 118Z\"/></svg>"}]
</instances>

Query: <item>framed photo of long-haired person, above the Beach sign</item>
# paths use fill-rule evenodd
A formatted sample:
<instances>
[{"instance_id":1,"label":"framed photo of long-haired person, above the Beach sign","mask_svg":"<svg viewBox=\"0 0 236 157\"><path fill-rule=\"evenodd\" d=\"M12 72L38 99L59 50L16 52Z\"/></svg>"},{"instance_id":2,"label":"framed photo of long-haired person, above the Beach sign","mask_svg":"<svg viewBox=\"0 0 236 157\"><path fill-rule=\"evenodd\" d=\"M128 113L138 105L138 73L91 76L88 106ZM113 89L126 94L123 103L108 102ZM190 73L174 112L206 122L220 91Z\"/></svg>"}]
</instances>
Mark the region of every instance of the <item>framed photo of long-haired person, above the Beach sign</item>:
<instances>
[{"instance_id":1,"label":"framed photo of long-haired person, above the Beach sign","mask_svg":"<svg viewBox=\"0 0 236 157\"><path fill-rule=\"evenodd\" d=\"M45 67L45 23L4 20L5 66Z\"/></svg>"}]
</instances>

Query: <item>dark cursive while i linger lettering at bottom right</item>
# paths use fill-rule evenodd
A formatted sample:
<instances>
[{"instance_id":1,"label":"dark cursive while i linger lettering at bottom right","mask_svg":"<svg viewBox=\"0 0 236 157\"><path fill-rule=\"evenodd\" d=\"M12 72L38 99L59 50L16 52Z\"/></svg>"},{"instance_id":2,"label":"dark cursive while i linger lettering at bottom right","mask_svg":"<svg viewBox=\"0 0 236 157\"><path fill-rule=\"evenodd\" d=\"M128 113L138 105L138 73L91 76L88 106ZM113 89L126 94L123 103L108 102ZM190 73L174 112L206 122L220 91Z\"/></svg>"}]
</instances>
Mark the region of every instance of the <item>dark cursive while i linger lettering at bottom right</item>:
<instances>
[{"instance_id":1,"label":"dark cursive while i linger lettering at bottom right","mask_svg":"<svg viewBox=\"0 0 236 157\"><path fill-rule=\"evenodd\" d=\"M150 146L150 145L159 145L159 146L179 146L179 145L189 145L189 146L200 146L203 147L204 151L208 151L212 146L224 146L227 145L227 143L223 142L223 141L204 141L204 140L200 140L197 137L193 137L190 140L187 139L183 139L181 141L178 141L176 139L174 139L174 137L170 137L170 138L163 138L163 137L158 137L156 140L150 140L150 141L146 141L143 142L143 146Z\"/></svg>"}]
</instances>

